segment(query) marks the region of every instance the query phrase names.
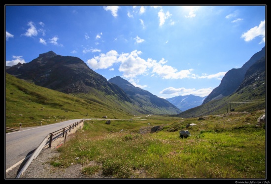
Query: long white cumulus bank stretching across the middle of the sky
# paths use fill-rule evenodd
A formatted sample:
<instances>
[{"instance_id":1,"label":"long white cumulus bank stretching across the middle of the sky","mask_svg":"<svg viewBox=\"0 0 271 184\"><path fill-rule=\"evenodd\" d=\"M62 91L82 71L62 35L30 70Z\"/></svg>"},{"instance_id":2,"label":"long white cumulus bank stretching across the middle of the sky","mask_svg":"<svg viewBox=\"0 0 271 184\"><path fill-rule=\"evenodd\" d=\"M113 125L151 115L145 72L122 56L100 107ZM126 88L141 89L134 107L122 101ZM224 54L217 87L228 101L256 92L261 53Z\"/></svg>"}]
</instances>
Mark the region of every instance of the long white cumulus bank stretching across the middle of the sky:
<instances>
[{"instance_id":1,"label":"long white cumulus bank stretching across the middle of the sky","mask_svg":"<svg viewBox=\"0 0 271 184\"><path fill-rule=\"evenodd\" d=\"M123 77L133 79L138 75L158 76L163 79L184 79L184 78L217 78L220 79L226 72L219 72L213 75L203 74L198 76L192 73L193 69L184 69L178 71L176 68L166 65L168 61L164 58L160 61L148 58L144 60L140 58L141 51L134 50L131 53L118 54L117 51L111 50L106 54L100 54L87 61L90 68L106 69L112 67L113 64L119 64L118 70L123 73Z\"/></svg>"}]
</instances>

